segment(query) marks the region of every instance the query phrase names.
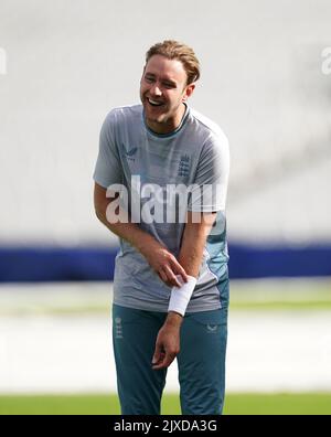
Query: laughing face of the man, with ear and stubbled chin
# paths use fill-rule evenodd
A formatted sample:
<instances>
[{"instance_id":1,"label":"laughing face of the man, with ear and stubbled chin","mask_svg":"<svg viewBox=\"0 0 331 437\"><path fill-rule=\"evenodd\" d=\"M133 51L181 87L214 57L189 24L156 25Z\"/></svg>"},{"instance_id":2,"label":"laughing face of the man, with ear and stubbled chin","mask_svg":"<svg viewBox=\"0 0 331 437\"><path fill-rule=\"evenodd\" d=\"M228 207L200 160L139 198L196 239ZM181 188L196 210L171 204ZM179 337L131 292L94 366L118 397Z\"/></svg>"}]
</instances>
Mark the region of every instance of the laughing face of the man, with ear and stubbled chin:
<instances>
[{"instance_id":1,"label":"laughing face of the man, with ear and stubbled chin","mask_svg":"<svg viewBox=\"0 0 331 437\"><path fill-rule=\"evenodd\" d=\"M146 122L157 134L169 134L180 125L185 102L195 85L186 85L188 75L178 60L153 55L143 68L140 98Z\"/></svg>"}]
</instances>

